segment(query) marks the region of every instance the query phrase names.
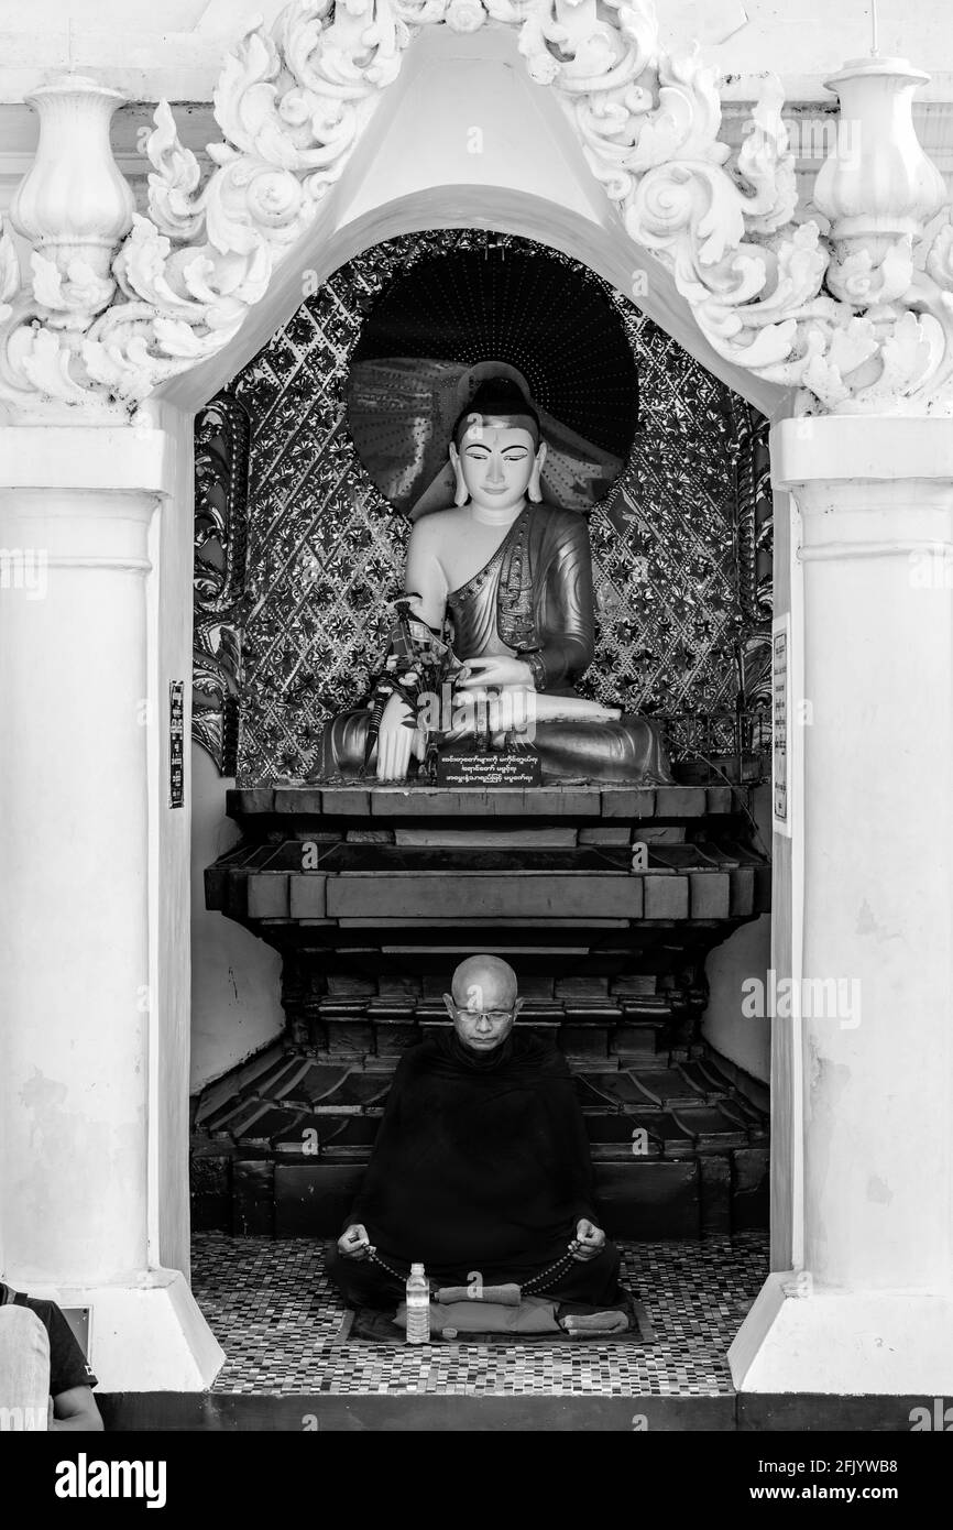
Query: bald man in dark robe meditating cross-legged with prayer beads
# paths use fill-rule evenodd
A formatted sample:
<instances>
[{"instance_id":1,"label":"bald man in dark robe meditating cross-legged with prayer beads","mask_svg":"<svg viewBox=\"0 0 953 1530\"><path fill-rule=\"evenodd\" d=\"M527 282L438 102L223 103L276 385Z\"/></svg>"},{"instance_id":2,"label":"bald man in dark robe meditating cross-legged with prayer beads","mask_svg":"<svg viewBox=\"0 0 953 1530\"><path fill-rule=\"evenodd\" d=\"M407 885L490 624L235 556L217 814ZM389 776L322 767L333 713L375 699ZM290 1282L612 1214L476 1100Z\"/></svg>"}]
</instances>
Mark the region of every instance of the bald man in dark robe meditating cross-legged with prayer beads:
<instances>
[{"instance_id":1,"label":"bald man in dark robe meditating cross-legged with prayer beads","mask_svg":"<svg viewBox=\"0 0 953 1530\"><path fill-rule=\"evenodd\" d=\"M415 1261L431 1290L479 1274L558 1302L616 1302L620 1256L597 1222L572 1076L514 1031L512 967L468 958L444 1002L453 1030L401 1059L332 1279L353 1307L393 1308Z\"/></svg>"}]
</instances>

